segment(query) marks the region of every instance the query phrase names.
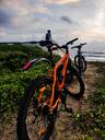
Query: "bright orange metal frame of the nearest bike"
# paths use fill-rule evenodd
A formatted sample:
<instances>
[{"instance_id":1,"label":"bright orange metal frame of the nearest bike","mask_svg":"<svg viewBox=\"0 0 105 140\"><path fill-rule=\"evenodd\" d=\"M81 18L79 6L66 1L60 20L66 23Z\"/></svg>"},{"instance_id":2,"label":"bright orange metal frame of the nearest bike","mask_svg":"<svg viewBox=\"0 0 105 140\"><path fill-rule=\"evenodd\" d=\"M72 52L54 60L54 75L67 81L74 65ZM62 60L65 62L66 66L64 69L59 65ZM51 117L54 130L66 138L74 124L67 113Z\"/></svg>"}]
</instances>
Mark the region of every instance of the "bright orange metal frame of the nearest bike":
<instances>
[{"instance_id":1,"label":"bright orange metal frame of the nearest bike","mask_svg":"<svg viewBox=\"0 0 105 140\"><path fill-rule=\"evenodd\" d=\"M51 92L51 96L50 96L50 104L49 104L49 108L50 110L52 110L54 108L57 107L57 105L59 104L59 102L61 101L61 89L63 88L65 84L65 79L66 79L66 70L67 70L67 66L68 66L68 59L69 59L69 52L66 52L66 55L56 63L56 66L54 67L52 71L54 71L54 77L52 77L52 92ZM57 77L57 70L58 68L63 63L63 68L61 70L61 75L62 75L62 81L61 83L59 83L58 77ZM58 98L54 104L54 100L55 100L55 90L56 90L56 83L57 83L57 88L58 88ZM44 88L40 90L39 92L39 96L38 96L38 102L42 101L43 97L43 93L44 93ZM46 104L46 103L45 103Z\"/></svg>"}]
</instances>

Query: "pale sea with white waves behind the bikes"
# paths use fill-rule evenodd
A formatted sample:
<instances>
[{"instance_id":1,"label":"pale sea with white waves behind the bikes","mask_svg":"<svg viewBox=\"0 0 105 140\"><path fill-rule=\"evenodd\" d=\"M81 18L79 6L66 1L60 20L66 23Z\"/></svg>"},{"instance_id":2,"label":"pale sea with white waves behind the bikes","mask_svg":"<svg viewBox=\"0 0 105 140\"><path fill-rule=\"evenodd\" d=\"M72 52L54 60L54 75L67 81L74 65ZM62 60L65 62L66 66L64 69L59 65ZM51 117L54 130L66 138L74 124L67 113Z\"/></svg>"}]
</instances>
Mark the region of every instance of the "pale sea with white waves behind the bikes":
<instances>
[{"instance_id":1,"label":"pale sea with white waves behind the bikes","mask_svg":"<svg viewBox=\"0 0 105 140\"><path fill-rule=\"evenodd\" d=\"M34 47L34 45L32 46ZM45 47L44 49L47 50ZM73 60L78 50L71 49L71 47L69 47L69 51L71 59ZM62 56L62 52L59 49L55 51L55 54ZM105 43L91 43L83 46L82 55L85 57L88 61L105 61Z\"/></svg>"}]
</instances>

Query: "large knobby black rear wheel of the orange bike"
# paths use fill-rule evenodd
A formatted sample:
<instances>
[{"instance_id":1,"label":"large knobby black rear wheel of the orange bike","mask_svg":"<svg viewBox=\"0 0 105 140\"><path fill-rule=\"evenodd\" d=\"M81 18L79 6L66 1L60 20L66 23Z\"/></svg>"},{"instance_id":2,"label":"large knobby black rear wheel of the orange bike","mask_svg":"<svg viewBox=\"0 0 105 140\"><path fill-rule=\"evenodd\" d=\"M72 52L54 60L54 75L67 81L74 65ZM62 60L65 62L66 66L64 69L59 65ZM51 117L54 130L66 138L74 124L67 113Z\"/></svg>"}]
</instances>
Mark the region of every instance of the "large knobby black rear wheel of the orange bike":
<instances>
[{"instance_id":1,"label":"large knobby black rear wheel of the orange bike","mask_svg":"<svg viewBox=\"0 0 105 140\"><path fill-rule=\"evenodd\" d=\"M43 77L26 89L18 115L18 140L49 140L56 118L56 112L50 114L48 108L51 84L51 79Z\"/></svg>"}]
</instances>

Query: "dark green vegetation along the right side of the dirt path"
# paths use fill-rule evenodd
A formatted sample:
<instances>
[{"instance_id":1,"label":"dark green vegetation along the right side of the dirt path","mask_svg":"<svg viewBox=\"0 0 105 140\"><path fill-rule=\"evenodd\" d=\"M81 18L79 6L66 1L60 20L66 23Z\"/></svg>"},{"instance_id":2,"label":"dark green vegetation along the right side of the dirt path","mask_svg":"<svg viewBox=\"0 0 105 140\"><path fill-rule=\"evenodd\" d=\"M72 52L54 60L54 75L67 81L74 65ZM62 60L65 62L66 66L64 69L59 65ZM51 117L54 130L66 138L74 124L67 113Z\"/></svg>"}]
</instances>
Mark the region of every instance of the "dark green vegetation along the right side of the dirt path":
<instances>
[{"instance_id":1,"label":"dark green vegetation along the right side of the dirt path","mask_svg":"<svg viewBox=\"0 0 105 140\"><path fill-rule=\"evenodd\" d=\"M75 129L83 133L83 140L105 140L105 62L96 62L98 79L91 93L91 109L73 116ZM81 139L82 140L82 139Z\"/></svg>"}]
</instances>

